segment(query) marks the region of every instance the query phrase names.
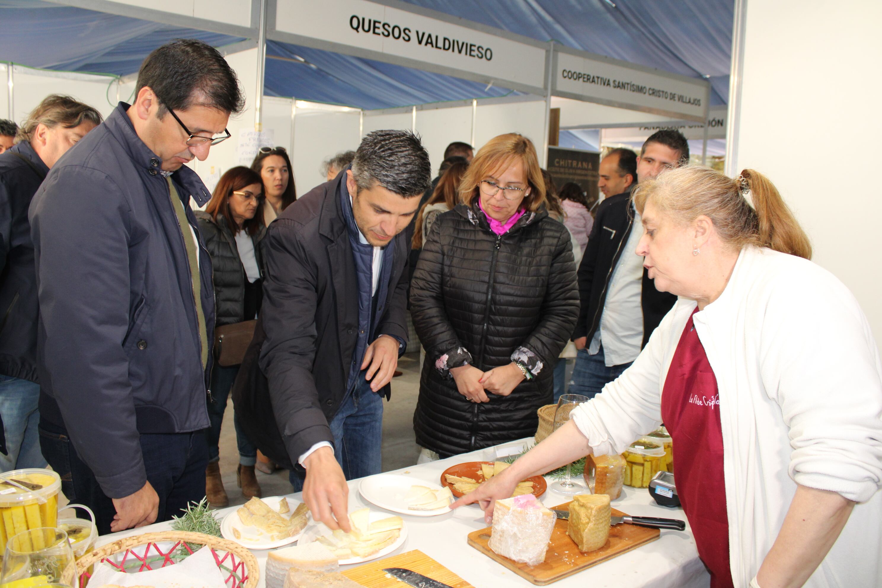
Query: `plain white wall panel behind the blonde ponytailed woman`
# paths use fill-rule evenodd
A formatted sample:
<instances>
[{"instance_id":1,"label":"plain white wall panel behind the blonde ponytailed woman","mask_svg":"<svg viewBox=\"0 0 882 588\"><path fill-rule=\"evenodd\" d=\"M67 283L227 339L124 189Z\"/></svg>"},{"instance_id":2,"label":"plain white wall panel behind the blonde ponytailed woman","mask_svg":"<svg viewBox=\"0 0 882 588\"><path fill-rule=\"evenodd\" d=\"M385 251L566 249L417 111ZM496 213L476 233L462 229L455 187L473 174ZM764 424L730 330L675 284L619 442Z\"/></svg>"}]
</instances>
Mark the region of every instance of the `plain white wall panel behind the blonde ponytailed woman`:
<instances>
[{"instance_id":1,"label":"plain white wall panel behind the blonde ponytailed woman","mask_svg":"<svg viewBox=\"0 0 882 588\"><path fill-rule=\"evenodd\" d=\"M743 86L730 103L740 115L729 143L732 173L753 168L774 182L809 234L814 261L851 289L882 342L882 274L874 255L882 189L873 173L868 181L861 171L821 174L818 167L842 148L870 158L878 151L882 79L868 63L882 57L879 22L878 2L747 3ZM818 71L835 71L835 80L814 83ZM838 147L833 152L819 148L829 138ZM821 151L827 154L818 159Z\"/></svg>"}]
</instances>

